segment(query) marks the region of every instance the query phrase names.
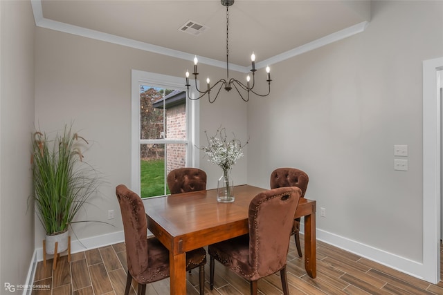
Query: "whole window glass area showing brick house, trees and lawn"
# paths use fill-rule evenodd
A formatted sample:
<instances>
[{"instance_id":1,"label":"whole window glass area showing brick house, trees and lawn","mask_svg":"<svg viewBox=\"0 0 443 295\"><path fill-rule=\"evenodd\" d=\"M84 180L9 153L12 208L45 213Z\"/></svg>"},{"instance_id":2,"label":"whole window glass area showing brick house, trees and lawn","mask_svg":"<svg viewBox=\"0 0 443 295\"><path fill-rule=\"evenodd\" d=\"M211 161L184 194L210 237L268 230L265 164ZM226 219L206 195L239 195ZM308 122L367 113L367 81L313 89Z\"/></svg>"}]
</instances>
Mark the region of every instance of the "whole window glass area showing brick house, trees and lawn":
<instances>
[{"instance_id":1,"label":"whole window glass area showing brick house, trees and lawn","mask_svg":"<svg viewBox=\"0 0 443 295\"><path fill-rule=\"evenodd\" d=\"M140 86L140 187L141 197L169 193L166 175L186 166L186 143L167 144L168 140L187 140L186 92Z\"/></svg>"}]
</instances>

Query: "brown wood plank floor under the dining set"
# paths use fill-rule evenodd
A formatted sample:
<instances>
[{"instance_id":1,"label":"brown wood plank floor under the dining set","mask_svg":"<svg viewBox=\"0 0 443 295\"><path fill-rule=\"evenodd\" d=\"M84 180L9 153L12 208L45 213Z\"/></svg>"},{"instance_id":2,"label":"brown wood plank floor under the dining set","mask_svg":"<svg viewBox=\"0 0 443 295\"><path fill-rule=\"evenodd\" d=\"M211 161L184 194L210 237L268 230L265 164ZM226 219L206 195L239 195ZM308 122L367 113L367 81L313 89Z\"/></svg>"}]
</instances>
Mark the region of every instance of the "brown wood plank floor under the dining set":
<instances>
[{"instance_id":1,"label":"brown wood plank floor under the dining set","mask_svg":"<svg viewBox=\"0 0 443 295\"><path fill-rule=\"evenodd\" d=\"M300 236L300 240L303 245L303 236ZM304 260L298 257L293 238L287 271L291 294L443 294L443 281L433 285L320 241L317 242L317 278L307 276ZM248 282L219 263L215 268L215 286L210 291L209 263L205 272L206 294L249 294ZM62 256L54 272L52 260L48 260L46 267L42 262L38 263L34 284L51 288L35 289L32 294L121 295L125 291L126 273L124 243L92 249L73 254L71 263L67 256ZM187 274L187 278L187 293L199 294L198 268ZM167 295L169 284L168 278L147 285L146 294ZM276 274L259 280L258 287L262 295L282 294L280 277ZM130 294L136 294L135 290L134 284Z\"/></svg>"}]
</instances>

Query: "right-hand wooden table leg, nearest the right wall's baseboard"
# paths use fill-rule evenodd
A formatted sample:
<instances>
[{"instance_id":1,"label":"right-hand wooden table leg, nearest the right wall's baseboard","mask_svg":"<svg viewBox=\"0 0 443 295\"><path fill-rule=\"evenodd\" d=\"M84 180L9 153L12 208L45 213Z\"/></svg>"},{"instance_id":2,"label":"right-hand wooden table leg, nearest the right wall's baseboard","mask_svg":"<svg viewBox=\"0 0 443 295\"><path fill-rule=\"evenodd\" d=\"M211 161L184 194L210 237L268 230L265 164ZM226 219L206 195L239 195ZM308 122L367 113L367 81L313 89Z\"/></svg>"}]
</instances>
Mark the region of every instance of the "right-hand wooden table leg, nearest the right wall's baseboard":
<instances>
[{"instance_id":1,"label":"right-hand wooden table leg, nearest the right wall's baseboard","mask_svg":"<svg viewBox=\"0 0 443 295\"><path fill-rule=\"evenodd\" d=\"M317 276L316 213L305 216L305 269L311 278Z\"/></svg>"}]
</instances>

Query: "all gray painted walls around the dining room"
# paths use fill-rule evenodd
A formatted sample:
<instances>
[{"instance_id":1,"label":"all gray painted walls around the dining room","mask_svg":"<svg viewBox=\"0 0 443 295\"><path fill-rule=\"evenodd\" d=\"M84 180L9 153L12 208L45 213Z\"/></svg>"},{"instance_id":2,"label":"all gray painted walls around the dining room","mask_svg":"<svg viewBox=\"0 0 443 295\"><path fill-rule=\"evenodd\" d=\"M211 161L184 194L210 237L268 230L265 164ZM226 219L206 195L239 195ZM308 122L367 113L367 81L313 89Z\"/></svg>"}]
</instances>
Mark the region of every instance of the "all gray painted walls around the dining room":
<instances>
[{"instance_id":1,"label":"all gray painted walls around the dining room","mask_svg":"<svg viewBox=\"0 0 443 295\"><path fill-rule=\"evenodd\" d=\"M34 29L27 1L0 1L0 10L1 282L24 283L44 237L26 212L34 118L44 131L74 122L93 142L86 159L106 176L83 214L109 221L114 209L115 227L77 225L78 237L121 231L114 190L129 184L131 69L181 77L192 61ZM269 97L246 104L231 92L215 104L202 100L201 144L205 129L220 125L249 137L233 169L237 184L269 187L273 169L296 166L310 176L307 198L327 209L317 218L319 238L422 260L422 61L443 54L442 12L440 1L372 2L365 32L272 65ZM221 68L200 70L224 77ZM394 144L408 144L408 172L393 170ZM200 162L215 187L219 168Z\"/></svg>"}]
</instances>

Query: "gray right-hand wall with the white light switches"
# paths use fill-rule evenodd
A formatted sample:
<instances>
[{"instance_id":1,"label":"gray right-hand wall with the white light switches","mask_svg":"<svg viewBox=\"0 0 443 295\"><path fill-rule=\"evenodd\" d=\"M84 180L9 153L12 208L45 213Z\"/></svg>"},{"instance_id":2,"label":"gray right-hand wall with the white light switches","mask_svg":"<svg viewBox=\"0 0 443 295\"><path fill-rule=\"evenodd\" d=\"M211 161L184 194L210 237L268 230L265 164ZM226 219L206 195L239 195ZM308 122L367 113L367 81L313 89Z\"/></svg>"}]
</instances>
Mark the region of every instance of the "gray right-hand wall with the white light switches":
<instances>
[{"instance_id":1,"label":"gray right-hand wall with the white light switches","mask_svg":"<svg viewBox=\"0 0 443 295\"><path fill-rule=\"evenodd\" d=\"M272 97L248 104L248 183L296 166L327 212L318 238L421 262L422 61L443 55L442 16L440 1L373 1L364 32L273 65Z\"/></svg>"}]
</instances>

